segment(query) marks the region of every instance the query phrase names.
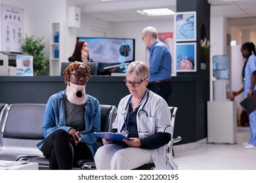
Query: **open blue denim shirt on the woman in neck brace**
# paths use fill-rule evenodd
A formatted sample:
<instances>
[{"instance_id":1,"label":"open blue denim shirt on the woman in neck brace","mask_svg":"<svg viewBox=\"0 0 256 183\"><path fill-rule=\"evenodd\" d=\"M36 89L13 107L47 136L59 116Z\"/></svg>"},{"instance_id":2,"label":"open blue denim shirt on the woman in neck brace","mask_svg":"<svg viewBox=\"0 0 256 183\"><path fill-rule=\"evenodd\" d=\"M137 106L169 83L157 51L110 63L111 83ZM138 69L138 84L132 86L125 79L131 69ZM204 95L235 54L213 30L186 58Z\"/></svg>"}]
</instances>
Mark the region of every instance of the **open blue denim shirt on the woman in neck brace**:
<instances>
[{"instance_id":1,"label":"open blue denim shirt on the woman in neck brace","mask_svg":"<svg viewBox=\"0 0 256 183\"><path fill-rule=\"evenodd\" d=\"M93 135L93 132L100 132L100 104L95 97L87 94L85 94L85 96L87 99L84 105L86 129L80 131L81 142L87 144L94 156L97 150L97 137ZM64 129L68 132L72 128L66 125L64 109L65 97L67 97L66 91L58 92L49 97L47 106L45 108L45 115L43 117L43 137L47 138L51 133L53 133L53 131L56 131L57 129ZM45 139L37 144L39 150L42 149L44 141Z\"/></svg>"}]
</instances>

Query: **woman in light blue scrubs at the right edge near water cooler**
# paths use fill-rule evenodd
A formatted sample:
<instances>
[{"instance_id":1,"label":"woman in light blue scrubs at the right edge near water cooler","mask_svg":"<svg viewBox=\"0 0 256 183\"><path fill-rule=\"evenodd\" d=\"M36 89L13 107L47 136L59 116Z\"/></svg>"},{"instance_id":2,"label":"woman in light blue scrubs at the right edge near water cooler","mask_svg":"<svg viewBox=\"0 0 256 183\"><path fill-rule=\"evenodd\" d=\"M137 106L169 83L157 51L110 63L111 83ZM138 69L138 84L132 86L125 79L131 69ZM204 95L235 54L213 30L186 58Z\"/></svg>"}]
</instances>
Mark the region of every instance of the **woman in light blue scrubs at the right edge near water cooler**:
<instances>
[{"instance_id":1,"label":"woman in light blue scrubs at the right edge near water cooler","mask_svg":"<svg viewBox=\"0 0 256 183\"><path fill-rule=\"evenodd\" d=\"M241 47L242 56L246 59L242 70L244 87L236 92L230 92L231 99L244 92L244 98L253 98L256 92L256 51L253 42L245 42ZM252 54L253 52L253 54ZM256 110L249 114L250 139L243 143L245 149L256 149Z\"/></svg>"}]
</instances>

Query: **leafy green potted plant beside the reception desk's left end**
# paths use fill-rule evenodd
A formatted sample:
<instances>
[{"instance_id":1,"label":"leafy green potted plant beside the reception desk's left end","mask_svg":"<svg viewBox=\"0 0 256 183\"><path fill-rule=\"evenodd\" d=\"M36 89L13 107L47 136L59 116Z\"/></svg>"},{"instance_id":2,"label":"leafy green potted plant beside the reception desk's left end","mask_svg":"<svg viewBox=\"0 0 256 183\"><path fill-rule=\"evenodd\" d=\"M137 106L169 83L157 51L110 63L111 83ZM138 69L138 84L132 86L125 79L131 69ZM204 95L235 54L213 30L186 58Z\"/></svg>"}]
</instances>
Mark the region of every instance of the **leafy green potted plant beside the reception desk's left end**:
<instances>
[{"instance_id":1,"label":"leafy green potted plant beside the reception desk's left end","mask_svg":"<svg viewBox=\"0 0 256 183\"><path fill-rule=\"evenodd\" d=\"M22 44L22 52L33 56L33 73L36 76L49 75L49 60L45 60L44 48L43 37L39 38L33 35L26 35L24 44Z\"/></svg>"}]
</instances>

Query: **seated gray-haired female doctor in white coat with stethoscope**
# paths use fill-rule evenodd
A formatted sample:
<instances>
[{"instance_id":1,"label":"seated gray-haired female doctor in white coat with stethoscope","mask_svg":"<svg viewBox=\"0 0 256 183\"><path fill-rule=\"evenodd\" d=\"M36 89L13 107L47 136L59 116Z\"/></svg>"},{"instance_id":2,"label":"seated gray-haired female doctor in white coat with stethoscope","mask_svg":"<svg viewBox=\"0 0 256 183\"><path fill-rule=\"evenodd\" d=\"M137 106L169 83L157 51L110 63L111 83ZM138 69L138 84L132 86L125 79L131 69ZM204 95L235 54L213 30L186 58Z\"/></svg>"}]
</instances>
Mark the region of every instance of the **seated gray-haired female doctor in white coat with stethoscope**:
<instances>
[{"instance_id":1,"label":"seated gray-haired female doctor in white coat with stethoscope","mask_svg":"<svg viewBox=\"0 0 256 183\"><path fill-rule=\"evenodd\" d=\"M131 94L119 102L113 130L131 140L102 139L104 146L95 154L96 169L129 170L146 163L154 163L156 169L171 169L165 157L165 144L171 139L171 112L160 95L146 88L148 65L142 61L130 63L125 77Z\"/></svg>"}]
</instances>

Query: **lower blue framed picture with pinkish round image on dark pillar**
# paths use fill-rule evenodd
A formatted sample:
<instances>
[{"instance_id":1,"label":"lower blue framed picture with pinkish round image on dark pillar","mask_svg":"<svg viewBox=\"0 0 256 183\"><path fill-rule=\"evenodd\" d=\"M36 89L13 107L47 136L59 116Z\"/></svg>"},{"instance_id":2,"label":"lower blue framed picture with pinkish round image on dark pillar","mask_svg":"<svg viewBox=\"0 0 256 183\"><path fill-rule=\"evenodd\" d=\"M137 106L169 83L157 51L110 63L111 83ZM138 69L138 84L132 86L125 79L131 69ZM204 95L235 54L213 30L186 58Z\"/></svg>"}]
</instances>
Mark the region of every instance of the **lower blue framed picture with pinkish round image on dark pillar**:
<instances>
[{"instance_id":1,"label":"lower blue framed picture with pinkish round image on dark pillar","mask_svg":"<svg viewBox=\"0 0 256 183\"><path fill-rule=\"evenodd\" d=\"M177 42L176 72L196 72L196 42Z\"/></svg>"}]
</instances>

